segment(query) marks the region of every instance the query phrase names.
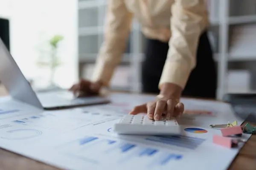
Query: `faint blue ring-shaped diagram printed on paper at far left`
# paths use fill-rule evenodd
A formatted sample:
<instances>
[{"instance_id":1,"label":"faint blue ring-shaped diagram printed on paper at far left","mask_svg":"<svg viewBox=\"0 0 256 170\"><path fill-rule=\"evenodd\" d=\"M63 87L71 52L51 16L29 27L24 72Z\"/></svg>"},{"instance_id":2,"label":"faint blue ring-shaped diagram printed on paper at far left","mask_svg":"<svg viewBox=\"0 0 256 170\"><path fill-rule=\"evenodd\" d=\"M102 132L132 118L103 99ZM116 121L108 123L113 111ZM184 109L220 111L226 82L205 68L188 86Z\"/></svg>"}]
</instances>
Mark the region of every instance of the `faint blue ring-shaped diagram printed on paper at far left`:
<instances>
[{"instance_id":1,"label":"faint blue ring-shaped diagram printed on paper at far left","mask_svg":"<svg viewBox=\"0 0 256 170\"><path fill-rule=\"evenodd\" d=\"M20 140L20 139L30 139L36 136L40 136L42 131L35 129L17 129L17 130L9 130L6 133L1 135L1 139L7 140Z\"/></svg>"}]
</instances>

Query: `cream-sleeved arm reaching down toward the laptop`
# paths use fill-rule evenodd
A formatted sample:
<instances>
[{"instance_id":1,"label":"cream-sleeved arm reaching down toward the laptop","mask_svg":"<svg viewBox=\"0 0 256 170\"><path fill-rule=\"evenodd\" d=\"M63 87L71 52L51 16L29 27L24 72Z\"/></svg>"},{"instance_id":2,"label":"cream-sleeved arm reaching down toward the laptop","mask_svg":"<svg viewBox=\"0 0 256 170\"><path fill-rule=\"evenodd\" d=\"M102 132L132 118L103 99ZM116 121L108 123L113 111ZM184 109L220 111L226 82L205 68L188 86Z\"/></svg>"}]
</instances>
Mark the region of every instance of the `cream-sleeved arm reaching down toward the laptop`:
<instances>
[{"instance_id":1,"label":"cream-sleeved arm reaching down toward the laptop","mask_svg":"<svg viewBox=\"0 0 256 170\"><path fill-rule=\"evenodd\" d=\"M108 86L116 66L125 51L132 14L124 0L109 0L104 42L96 60L93 81Z\"/></svg>"}]
</instances>

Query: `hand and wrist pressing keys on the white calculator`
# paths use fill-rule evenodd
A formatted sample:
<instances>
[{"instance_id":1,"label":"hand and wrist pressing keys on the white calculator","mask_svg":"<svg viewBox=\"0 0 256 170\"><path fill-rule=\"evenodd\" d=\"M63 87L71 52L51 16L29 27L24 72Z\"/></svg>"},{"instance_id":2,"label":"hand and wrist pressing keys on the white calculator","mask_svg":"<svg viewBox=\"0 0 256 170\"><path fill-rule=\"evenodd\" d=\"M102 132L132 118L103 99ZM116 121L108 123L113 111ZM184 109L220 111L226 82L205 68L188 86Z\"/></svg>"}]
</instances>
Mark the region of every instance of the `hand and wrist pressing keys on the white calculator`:
<instances>
[{"instance_id":1,"label":"hand and wrist pressing keys on the white calculator","mask_svg":"<svg viewBox=\"0 0 256 170\"><path fill-rule=\"evenodd\" d=\"M181 116L184 111L183 103L179 102L182 88L172 83L164 83L161 86L160 97L157 100L137 105L130 114L147 113L149 119L160 120L161 117Z\"/></svg>"}]
</instances>

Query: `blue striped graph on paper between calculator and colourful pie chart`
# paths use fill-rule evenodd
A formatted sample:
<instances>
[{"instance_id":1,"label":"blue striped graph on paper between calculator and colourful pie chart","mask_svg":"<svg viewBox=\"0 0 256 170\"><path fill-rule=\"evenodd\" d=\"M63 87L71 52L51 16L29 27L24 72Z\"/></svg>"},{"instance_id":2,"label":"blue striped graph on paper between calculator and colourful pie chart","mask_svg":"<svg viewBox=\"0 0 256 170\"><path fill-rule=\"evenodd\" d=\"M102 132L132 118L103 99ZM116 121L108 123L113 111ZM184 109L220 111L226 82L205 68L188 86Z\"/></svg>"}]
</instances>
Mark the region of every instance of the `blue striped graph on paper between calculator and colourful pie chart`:
<instances>
[{"instance_id":1,"label":"blue striped graph on paper between calculator and colourful pie chart","mask_svg":"<svg viewBox=\"0 0 256 170\"><path fill-rule=\"evenodd\" d=\"M192 150L195 150L205 141L205 139L189 136L150 136L145 138L145 140L184 147Z\"/></svg>"}]
</instances>

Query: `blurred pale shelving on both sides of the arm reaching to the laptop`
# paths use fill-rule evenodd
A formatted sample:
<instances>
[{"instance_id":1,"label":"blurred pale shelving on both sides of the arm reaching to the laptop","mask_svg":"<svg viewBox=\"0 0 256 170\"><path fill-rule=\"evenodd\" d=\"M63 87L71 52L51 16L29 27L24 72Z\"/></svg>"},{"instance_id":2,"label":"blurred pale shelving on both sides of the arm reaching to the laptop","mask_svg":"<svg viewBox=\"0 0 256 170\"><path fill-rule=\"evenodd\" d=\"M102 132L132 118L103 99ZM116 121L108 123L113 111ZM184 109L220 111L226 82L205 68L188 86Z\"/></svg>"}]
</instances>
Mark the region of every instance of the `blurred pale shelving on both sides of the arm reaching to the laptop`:
<instances>
[{"instance_id":1,"label":"blurred pale shelving on both sides of the arm reaching to the laptop","mask_svg":"<svg viewBox=\"0 0 256 170\"><path fill-rule=\"evenodd\" d=\"M90 75L93 72L91 65L96 62L97 54L103 42L107 3L107 0L79 0L78 40L80 77L87 78L86 75ZM139 24L134 20L131 34L127 41L127 48L119 66L119 68L129 66L127 71L131 72L131 76L127 77L129 79L127 82L130 84L120 87L122 83L119 83L118 78L116 79L114 75L114 82L111 86L113 90L140 92L140 63L143 60L142 39L143 35L140 33ZM120 75L118 76L120 77ZM123 79L120 81L123 81Z\"/></svg>"}]
</instances>

